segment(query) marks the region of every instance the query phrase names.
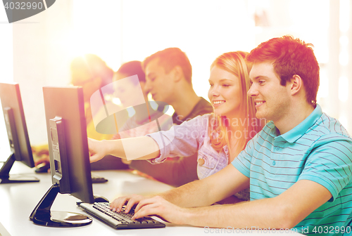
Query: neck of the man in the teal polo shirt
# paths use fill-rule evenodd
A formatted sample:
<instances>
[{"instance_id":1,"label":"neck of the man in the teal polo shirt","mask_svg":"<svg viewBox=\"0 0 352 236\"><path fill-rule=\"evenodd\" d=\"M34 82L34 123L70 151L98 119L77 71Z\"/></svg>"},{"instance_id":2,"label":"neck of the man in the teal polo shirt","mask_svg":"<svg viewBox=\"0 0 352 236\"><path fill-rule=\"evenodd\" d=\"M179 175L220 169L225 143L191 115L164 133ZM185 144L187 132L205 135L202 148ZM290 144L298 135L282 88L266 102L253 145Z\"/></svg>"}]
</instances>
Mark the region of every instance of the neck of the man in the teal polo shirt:
<instances>
[{"instance_id":1,"label":"neck of the man in the teal polo shirt","mask_svg":"<svg viewBox=\"0 0 352 236\"><path fill-rule=\"evenodd\" d=\"M304 103L302 105L294 106L295 108L291 110L289 114L280 119L279 121L274 121L275 126L279 129L280 134L287 133L294 127L301 124L304 119L306 119L315 109L312 105Z\"/></svg>"}]
</instances>

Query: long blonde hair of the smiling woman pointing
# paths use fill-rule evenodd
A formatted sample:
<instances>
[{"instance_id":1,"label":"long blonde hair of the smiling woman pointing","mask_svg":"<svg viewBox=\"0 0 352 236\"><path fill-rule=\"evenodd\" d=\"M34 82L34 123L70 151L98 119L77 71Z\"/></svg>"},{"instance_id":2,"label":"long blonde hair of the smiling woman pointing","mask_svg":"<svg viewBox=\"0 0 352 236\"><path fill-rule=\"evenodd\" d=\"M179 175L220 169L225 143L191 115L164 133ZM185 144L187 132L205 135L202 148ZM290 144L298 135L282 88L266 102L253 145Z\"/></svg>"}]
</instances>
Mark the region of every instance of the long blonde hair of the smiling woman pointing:
<instances>
[{"instance_id":1,"label":"long blonde hair of the smiling woman pointing","mask_svg":"<svg viewBox=\"0 0 352 236\"><path fill-rule=\"evenodd\" d=\"M246 144L253 136L256 135L262 128L260 120L256 118L256 108L253 100L247 96L247 91L251 87L251 81L249 80L249 71L251 70L252 63L247 62L244 58L248 53L243 51L234 51L230 53L223 53L210 66L210 70L213 67L219 67L222 70L226 70L231 74L234 74L239 78L239 84L241 86L241 103L239 105L239 117L237 121L230 121L225 116L219 116L212 114L210 116L209 125L209 137L212 147L220 152L222 147L227 144L227 147L231 150L229 143L229 136L227 127L232 124L238 124L238 131L241 133L241 138L237 140L236 154L244 150ZM237 132L233 134L237 137Z\"/></svg>"}]
</instances>

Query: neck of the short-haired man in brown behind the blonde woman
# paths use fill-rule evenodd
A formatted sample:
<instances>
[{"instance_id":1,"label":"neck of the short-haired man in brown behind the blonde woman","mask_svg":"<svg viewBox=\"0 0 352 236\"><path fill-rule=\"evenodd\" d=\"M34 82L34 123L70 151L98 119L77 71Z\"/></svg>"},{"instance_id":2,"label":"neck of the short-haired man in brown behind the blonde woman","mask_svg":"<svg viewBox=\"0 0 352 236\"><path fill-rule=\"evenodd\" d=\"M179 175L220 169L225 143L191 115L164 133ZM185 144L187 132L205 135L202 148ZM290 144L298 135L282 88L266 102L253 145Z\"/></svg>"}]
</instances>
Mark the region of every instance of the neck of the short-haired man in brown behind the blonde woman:
<instances>
[{"instance_id":1,"label":"neck of the short-haired man in brown behind the blonde woman","mask_svg":"<svg viewBox=\"0 0 352 236\"><path fill-rule=\"evenodd\" d=\"M191 91L182 91L182 94L178 94L171 105L177 115L180 116L180 119L184 119L184 117L187 117L191 113L196 104L199 103L199 100L201 98L191 89Z\"/></svg>"}]
</instances>

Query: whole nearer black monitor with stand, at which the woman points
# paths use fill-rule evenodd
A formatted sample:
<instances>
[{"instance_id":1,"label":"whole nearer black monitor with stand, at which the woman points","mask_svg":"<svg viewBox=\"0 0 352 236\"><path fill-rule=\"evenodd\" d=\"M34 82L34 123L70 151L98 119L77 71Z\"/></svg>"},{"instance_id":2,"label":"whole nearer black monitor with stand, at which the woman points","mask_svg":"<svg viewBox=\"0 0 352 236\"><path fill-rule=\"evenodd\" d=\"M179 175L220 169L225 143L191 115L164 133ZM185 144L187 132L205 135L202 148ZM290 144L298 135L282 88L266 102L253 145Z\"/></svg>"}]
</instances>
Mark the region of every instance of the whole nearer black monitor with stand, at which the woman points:
<instances>
[{"instance_id":1,"label":"whole nearer black monitor with stand, at which the woman points","mask_svg":"<svg viewBox=\"0 0 352 236\"><path fill-rule=\"evenodd\" d=\"M52 186L30 215L30 220L51 227L77 227L92 222L83 214L51 211L60 192L82 202L108 202L93 195L87 124L81 87L44 86Z\"/></svg>"}]
</instances>

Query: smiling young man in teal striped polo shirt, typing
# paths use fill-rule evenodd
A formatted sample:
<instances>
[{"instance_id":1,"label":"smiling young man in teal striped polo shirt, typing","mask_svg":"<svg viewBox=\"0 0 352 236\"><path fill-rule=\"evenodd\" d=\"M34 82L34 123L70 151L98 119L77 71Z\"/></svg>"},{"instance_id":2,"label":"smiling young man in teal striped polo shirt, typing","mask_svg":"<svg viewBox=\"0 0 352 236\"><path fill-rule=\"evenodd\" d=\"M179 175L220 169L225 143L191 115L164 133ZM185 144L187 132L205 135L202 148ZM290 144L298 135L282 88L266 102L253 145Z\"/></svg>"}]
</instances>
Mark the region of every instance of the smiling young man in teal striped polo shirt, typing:
<instances>
[{"instance_id":1,"label":"smiling young man in teal striped polo shirt, typing","mask_svg":"<svg viewBox=\"0 0 352 236\"><path fill-rule=\"evenodd\" d=\"M316 104L319 66L310 46L285 36L247 56L253 62L248 95L257 117L270 122L232 164L158 196L120 197L111 208L118 211L128 201L129 211L138 203L134 218L158 215L208 230L351 235L352 139ZM251 201L210 206L248 187Z\"/></svg>"}]
</instances>

